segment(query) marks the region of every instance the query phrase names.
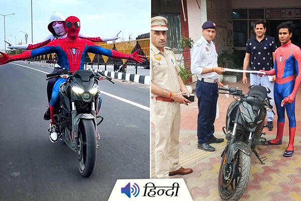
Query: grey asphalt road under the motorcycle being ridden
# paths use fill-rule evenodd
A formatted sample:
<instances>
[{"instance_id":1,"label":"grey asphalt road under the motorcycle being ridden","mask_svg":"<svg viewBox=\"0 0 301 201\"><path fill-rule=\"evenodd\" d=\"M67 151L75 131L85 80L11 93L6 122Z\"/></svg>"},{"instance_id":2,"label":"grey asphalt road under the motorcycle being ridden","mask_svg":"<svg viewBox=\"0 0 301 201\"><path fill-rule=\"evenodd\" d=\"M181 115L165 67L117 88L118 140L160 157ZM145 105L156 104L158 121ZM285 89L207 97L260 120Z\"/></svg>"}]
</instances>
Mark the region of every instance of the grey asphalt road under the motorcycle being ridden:
<instances>
[{"instance_id":1,"label":"grey asphalt road under the motorcycle being ridden","mask_svg":"<svg viewBox=\"0 0 301 201\"><path fill-rule=\"evenodd\" d=\"M149 178L149 86L104 80L101 139L93 174L83 178L76 153L50 142L46 74L51 68L0 66L0 200L107 200L117 179ZM142 107L143 108L143 107Z\"/></svg>"}]
</instances>

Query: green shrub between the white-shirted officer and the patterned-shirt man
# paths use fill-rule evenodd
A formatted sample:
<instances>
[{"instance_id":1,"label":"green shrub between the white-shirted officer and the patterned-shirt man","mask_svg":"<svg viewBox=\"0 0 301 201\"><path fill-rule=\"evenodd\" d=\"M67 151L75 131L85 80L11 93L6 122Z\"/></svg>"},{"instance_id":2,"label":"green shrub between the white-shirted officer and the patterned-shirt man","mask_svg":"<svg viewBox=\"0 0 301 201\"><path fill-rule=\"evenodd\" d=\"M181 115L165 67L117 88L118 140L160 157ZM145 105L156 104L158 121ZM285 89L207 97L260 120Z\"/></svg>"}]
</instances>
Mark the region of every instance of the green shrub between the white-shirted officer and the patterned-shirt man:
<instances>
[{"instance_id":1,"label":"green shrub between the white-shirted officer and the patterned-shirt man","mask_svg":"<svg viewBox=\"0 0 301 201\"><path fill-rule=\"evenodd\" d=\"M228 68L240 68L240 58L239 52L234 47L232 48L232 54L228 50L223 50L217 59L218 66L228 67ZM230 65L230 61L233 62L233 65Z\"/></svg>"}]
</instances>

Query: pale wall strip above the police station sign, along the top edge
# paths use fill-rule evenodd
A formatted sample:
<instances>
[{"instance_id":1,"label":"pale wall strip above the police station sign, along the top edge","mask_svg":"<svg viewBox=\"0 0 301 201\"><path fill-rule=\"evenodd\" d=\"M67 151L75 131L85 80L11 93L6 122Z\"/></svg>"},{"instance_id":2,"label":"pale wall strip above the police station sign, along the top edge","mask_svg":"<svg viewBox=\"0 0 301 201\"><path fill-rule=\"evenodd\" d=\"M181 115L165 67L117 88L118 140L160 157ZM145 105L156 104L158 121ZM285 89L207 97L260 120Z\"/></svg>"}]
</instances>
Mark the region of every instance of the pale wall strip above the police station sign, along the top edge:
<instances>
[{"instance_id":1,"label":"pale wall strip above the police station sign, along the top edge","mask_svg":"<svg viewBox=\"0 0 301 201\"><path fill-rule=\"evenodd\" d=\"M275 1L262 1L262 0L232 0L232 8L300 8L301 1L300 0L286 0L285 2L280 0Z\"/></svg>"}]
</instances>

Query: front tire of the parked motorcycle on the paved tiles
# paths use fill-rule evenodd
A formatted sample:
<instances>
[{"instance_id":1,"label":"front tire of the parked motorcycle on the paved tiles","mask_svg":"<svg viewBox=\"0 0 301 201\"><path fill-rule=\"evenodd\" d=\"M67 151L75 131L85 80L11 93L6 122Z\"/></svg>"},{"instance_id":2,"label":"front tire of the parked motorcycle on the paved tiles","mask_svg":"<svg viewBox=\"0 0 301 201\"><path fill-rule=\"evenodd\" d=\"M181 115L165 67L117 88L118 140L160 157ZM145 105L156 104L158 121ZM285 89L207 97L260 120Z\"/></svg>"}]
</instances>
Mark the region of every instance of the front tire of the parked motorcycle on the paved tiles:
<instances>
[{"instance_id":1,"label":"front tire of the parked motorcycle on the paved tiles","mask_svg":"<svg viewBox=\"0 0 301 201\"><path fill-rule=\"evenodd\" d=\"M218 175L218 191L223 200L238 200L244 193L250 176L251 160L250 156L238 150L228 170L222 164Z\"/></svg>"}]
</instances>

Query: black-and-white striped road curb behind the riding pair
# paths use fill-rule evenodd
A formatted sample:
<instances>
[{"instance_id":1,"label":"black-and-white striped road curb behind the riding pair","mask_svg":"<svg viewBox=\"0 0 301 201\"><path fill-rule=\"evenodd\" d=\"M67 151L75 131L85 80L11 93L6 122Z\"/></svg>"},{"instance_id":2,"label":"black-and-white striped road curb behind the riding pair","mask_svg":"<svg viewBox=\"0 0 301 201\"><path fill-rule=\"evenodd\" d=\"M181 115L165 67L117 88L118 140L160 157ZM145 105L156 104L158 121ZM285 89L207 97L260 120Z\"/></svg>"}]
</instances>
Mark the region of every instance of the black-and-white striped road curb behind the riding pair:
<instances>
[{"instance_id":1,"label":"black-and-white striped road curb behind the riding pair","mask_svg":"<svg viewBox=\"0 0 301 201\"><path fill-rule=\"evenodd\" d=\"M24 63L30 63L33 65L40 65L43 67L52 67L54 68L54 63L45 63L42 61L21 61ZM123 73L123 72L114 72L114 71L108 71L108 70L98 70L98 69L92 69L92 68L85 68L86 70L92 70L93 72L102 72L108 77L112 77L115 79L121 79L121 80L127 80L132 82L137 82L141 84L150 85L150 76L149 75L139 75L139 74L131 74L131 73Z\"/></svg>"}]
</instances>

